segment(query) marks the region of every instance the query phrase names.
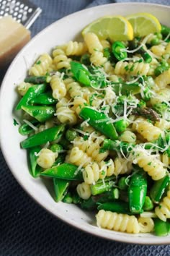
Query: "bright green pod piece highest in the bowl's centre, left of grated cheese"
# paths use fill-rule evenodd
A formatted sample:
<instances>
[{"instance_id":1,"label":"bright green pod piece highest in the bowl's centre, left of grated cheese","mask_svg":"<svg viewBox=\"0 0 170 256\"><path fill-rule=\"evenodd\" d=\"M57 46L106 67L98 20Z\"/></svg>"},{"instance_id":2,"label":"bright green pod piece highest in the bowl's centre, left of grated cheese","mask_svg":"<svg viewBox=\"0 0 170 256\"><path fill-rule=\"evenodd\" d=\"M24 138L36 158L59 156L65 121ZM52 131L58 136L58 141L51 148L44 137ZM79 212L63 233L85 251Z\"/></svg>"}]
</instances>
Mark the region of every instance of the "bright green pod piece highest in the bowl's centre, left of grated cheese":
<instances>
[{"instance_id":1,"label":"bright green pod piece highest in the bowl's centre, left of grated cheese","mask_svg":"<svg viewBox=\"0 0 170 256\"><path fill-rule=\"evenodd\" d=\"M81 63L76 61L71 61L71 72L78 82L81 82L83 85L90 86L90 73Z\"/></svg>"}]
</instances>

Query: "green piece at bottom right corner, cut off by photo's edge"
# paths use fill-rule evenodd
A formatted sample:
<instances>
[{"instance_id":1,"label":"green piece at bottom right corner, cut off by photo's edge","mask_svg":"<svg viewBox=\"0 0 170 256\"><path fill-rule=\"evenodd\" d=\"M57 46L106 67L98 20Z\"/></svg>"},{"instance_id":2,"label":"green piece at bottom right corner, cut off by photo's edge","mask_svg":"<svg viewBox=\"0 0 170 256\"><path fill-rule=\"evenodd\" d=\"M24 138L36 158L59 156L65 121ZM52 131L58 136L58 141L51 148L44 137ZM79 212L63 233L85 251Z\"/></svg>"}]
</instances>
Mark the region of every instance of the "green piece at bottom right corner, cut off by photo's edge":
<instances>
[{"instance_id":1,"label":"green piece at bottom right corner, cut off by photo's edge","mask_svg":"<svg viewBox=\"0 0 170 256\"><path fill-rule=\"evenodd\" d=\"M154 230L156 236L167 236L170 233L169 221L161 221L159 218L154 218Z\"/></svg>"}]
</instances>

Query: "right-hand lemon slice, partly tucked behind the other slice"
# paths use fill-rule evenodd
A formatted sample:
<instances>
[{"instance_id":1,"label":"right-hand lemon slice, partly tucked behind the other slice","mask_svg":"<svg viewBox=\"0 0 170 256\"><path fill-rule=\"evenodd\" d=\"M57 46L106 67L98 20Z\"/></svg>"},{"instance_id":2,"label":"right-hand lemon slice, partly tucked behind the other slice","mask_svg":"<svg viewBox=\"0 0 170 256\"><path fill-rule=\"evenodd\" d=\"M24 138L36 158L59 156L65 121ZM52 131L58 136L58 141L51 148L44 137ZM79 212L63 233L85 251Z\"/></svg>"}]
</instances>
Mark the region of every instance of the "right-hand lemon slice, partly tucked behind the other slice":
<instances>
[{"instance_id":1,"label":"right-hand lemon slice, partly tucked behind the other slice","mask_svg":"<svg viewBox=\"0 0 170 256\"><path fill-rule=\"evenodd\" d=\"M161 31L161 24L158 19L147 12L128 15L126 18L133 26L135 36L145 36Z\"/></svg>"}]
</instances>

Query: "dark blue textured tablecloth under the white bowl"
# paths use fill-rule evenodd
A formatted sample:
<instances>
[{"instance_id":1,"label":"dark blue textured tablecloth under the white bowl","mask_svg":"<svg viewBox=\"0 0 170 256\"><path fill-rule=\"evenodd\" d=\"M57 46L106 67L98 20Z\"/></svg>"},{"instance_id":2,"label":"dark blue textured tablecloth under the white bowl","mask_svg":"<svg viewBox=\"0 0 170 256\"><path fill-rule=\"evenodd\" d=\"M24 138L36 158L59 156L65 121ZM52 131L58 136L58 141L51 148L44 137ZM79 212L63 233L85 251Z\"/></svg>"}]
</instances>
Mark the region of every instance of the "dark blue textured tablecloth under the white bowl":
<instances>
[{"instance_id":1,"label":"dark blue textured tablecloth under the white bowl","mask_svg":"<svg viewBox=\"0 0 170 256\"><path fill-rule=\"evenodd\" d=\"M117 2L125 2L117 0ZM133 0L131 0L133 1ZM32 0L42 14L32 35L67 14L112 0ZM144 1L143 1L144 2ZM145 1L170 4L170 0ZM0 153L0 255L170 255L170 246L142 246L107 241L59 221L17 184Z\"/></svg>"}]
</instances>

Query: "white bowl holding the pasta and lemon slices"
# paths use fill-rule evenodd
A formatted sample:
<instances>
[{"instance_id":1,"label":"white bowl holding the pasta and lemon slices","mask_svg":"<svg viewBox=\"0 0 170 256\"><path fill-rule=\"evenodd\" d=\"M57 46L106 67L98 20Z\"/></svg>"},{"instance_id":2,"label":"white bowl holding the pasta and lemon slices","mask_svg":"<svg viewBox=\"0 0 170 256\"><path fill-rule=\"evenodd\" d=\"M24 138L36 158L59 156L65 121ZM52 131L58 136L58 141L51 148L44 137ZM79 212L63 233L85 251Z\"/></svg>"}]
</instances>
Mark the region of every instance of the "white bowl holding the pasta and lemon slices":
<instances>
[{"instance_id":1,"label":"white bowl holding the pasta and lemon slices","mask_svg":"<svg viewBox=\"0 0 170 256\"><path fill-rule=\"evenodd\" d=\"M64 17L45 28L45 30L42 30L35 38L32 38L30 43L19 52L12 62L1 85L1 150L6 163L19 184L35 201L62 221L66 221L66 223L89 234L115 241L135 244L170 244L170 236L159 237L153 234L132 235L99 229L92 214L86 213L76 207L76 205L68 205L63 202L56 203L47 187L45 187L45 184L42 183L42 179L33 179L30 176L27 167L26 151L19 147L19 142L23 140L23 137L19 135L18 126L13 124L13 119L17 119L17 114L14 113L14 106L16 106L17 101L16 84L24 80L28 67L35 61L37 56L44 52L50 52L56 45L79 37L82 28L99 17L109 14L127 15L136 12L150 12L164 25L169 25L170 7L145 3L107 4L84 9L81 12Z\"/></svg>"}]
</instances>

